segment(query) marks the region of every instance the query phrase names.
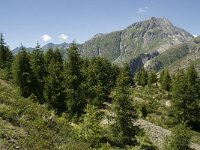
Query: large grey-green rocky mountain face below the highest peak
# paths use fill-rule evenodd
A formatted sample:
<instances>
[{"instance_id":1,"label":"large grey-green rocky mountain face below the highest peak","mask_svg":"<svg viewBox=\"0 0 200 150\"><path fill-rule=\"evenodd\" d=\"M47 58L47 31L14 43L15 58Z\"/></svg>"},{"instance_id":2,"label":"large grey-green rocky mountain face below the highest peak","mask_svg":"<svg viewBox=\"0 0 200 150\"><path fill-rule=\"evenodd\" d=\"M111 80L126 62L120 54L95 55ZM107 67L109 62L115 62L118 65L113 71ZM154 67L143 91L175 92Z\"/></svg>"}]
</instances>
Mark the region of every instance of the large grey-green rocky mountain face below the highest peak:
<instances>
[{"instance_id":1,"label":"large grey-green rocky mountain face below the highest peak","mask_svg":"<svg viewBox=\"0 0 200 150\"><path fill-rule=\"evenodd\" d=\"M171 24L165 18L150 18L124 30L97 34L80 45L83 55L103 56L116 64L129 63L138 55L158 51L184 43L193 36Z\"/></svg>"}]
</instances>

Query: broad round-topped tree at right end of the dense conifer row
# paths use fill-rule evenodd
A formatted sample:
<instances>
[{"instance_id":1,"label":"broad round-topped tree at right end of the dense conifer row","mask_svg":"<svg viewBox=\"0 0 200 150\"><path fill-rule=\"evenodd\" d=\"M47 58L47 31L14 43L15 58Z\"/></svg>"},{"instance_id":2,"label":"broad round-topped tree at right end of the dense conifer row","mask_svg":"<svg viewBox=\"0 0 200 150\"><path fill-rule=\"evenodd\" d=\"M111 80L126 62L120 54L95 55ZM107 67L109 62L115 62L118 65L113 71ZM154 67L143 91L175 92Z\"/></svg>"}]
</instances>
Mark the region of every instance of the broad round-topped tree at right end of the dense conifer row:
<instances>
[{"instance_id":1,"label":"broad round-topped tree at right end of the dense conifer row","mask_svg":"<svg viewBox=\"0 0 200 150\"><path fill-rule=\"evenodd\" d=\"M92 58L85 76L88 102L101 105L107 101L113 86L111 63L101 57Z\"/></svg>"}]
</instances>

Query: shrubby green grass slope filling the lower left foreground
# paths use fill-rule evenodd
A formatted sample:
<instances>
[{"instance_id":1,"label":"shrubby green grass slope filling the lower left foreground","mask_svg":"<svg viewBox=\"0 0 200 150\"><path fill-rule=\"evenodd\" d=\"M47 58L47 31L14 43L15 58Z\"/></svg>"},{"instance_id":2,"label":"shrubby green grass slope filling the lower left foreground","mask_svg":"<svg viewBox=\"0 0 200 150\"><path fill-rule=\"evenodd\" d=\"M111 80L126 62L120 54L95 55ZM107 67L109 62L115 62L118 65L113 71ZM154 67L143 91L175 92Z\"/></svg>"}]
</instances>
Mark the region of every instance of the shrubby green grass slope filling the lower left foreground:
<instances>
[{"instance_id":1,"label":"shrubby green grass slope filling the lower left foreground","mask_svg":"<svg viewBox=\"0 0 200 150\"><path fill-rule=\"evenodd\" d=\"M20 97L0 79L0 149L89 149L73 134L64 117Z\"/></svg>"}]
</instances>

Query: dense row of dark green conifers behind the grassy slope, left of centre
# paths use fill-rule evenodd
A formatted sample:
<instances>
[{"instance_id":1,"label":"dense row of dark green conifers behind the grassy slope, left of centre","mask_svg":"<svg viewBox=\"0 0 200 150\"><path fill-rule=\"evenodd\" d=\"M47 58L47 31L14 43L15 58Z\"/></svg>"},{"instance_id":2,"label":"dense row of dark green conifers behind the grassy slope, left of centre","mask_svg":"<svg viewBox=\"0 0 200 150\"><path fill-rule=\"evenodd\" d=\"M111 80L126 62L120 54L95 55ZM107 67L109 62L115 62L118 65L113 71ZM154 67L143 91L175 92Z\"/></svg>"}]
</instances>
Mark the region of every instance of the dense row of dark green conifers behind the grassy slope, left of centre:
<instances>
[{"instance_id":1,"label":"dense row of dark green conifers behind the grassy slope, left of centre","mask_svg":"<svg viewBox=\"0 0 200 150\"><path fill-rule=\"evenodd\" d=\"M37 45L28 53L23 47L11 70L23 97L35 97L70 117L80 117L87 104L101 106L109 101L119 74L119 68L103 58L81 58L75 44L67 49L66 61L59 49L44 53Z\"/></svg>"}]
</instances>

